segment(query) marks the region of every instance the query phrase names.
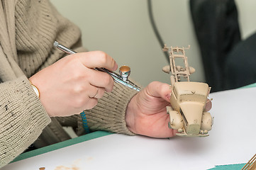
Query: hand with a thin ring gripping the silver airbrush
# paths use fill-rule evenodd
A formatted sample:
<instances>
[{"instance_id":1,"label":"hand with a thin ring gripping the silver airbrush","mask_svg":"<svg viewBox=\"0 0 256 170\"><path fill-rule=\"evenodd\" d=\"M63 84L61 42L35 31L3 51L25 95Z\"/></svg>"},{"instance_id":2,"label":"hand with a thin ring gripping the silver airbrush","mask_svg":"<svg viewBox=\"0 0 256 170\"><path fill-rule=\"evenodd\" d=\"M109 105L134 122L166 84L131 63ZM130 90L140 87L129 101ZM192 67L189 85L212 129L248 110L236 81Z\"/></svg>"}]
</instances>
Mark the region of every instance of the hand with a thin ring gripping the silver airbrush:
<instances>
[{"instance_id":1,"label":"hand with a thin ring gripping the silver airbrush","mask_svg":"<svg viewBox=\"0 0 256 170\"><path fill-rule=\"evenodd\" d=\"M112 91L112 77L95 67L114 71L118 66L105 52L81 52L68 55L30 77L50 116L79 114L94 108L105 91Z\"/></svg>"}]
</instances>

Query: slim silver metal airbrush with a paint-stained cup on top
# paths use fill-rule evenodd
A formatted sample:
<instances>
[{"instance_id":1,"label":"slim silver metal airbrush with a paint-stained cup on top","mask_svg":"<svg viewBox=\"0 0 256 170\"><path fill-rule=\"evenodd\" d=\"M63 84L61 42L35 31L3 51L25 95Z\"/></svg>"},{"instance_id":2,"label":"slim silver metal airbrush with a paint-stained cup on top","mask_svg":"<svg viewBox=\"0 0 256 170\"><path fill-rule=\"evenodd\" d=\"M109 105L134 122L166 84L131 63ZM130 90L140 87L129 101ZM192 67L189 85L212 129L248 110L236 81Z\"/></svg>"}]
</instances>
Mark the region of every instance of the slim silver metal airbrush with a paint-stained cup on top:
<instances>
[{"instance_id":1,"label":"slim silver metal airbrush with a paint-stained cup on top","mask_svg":"<svg viewBox=\"0 0 256 170\"><path fill-rule=\"evenodd\" d=\"M62 50L63 52L66 52L69 55L77 53L77 52L74 52L73 50L70 50L69 48L67 48L63 45L60 45L59 42L57 42L57 41L55 41L53 45L55 47L57 47L58 49ZM107 74L109 74L113 78L113 80L116 83L120 83L120 84L123 84L124 86L128 86L130 89L140 91L139 86L134 84L132 81L128 80L128 76L130 75L130 67L128 67L128 66L120 67L120 69L119 69L120 75L116 74L115 72L111 72L110 70L105 69L105 68L94 68L94 69L96 69L98 71L101 71L101 72L106 72Z\"/></svg>"}]
</instances>

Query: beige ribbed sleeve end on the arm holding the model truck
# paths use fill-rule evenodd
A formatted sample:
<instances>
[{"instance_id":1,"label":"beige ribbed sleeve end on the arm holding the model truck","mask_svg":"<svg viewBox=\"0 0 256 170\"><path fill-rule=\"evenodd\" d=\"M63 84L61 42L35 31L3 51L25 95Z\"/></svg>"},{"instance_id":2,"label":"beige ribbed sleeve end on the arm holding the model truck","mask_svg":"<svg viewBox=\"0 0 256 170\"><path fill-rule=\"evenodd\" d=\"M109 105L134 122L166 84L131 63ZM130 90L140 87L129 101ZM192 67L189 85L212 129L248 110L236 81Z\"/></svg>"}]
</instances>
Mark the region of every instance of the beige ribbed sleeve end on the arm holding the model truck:
<instances>
[{"instance_id":1,"label":"beige ribbed sleeve end on the arm holding the model truck","mask_svg":"<svg viewBox=\"0 0 256 170\"><path fill-rule=\"evenodd\" d=\"M138 91L121 84L115 84L111 93L105 93L99 103L86 111L90 130L106 130L109 132L135 135L126 127L126 107L130 99Z\"/></svg>"}]
</instances>

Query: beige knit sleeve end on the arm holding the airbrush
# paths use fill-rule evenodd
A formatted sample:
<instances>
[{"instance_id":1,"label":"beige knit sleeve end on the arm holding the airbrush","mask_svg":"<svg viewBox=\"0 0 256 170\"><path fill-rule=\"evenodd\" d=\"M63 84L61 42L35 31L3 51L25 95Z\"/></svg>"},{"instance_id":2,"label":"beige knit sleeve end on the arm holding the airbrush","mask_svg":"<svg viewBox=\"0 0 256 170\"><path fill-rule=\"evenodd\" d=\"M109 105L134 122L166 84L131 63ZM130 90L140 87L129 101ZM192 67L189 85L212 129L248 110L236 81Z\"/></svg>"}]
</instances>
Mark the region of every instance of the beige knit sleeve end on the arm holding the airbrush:
<instances>
[{"instance_id":1,"label":"beige knit sleeve end on the arm holding the airbrush","mask_svg":"<svg viewBox=\"0 0 256 170\"><path fill-rule=\"evenodd\" d=\"M1 164L27 149L50 123L39 98L23 76L0 84Z\"/></svg>"}]
</instances>

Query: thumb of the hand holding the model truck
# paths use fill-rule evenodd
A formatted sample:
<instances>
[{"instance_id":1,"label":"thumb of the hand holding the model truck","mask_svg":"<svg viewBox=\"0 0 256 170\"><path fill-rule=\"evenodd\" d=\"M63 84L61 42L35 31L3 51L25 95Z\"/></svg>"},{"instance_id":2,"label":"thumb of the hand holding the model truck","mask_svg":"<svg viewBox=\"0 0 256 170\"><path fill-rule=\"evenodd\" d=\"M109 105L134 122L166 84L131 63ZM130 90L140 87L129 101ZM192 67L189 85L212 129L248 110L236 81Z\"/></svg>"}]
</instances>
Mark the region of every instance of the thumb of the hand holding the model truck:
<instances>
[{"instance_id":1,"label":"thumb of the hand holding the model truck","mask_svg":"<svg viewBox=\"0 0 256 170\"><path fill-rule=\"evenodd\" d=\"M163 98L169 102L172 86L160 81L153 81L148 85L147 93L152 97Z\"/></svg>"}]
</instances>

